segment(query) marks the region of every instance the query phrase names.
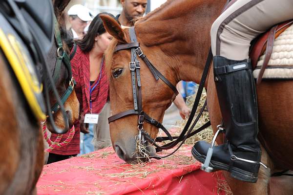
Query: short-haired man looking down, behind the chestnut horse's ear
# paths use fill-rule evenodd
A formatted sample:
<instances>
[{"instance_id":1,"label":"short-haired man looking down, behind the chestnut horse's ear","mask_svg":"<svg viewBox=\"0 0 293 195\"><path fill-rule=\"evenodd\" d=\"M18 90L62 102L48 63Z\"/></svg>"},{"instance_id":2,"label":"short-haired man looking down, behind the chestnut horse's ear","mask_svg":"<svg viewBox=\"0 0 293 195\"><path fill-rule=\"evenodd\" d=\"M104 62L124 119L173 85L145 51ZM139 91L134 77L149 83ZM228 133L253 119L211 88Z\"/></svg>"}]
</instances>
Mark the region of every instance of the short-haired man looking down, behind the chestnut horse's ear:
<instances>
[{"instance_id":1,"label":"short-haired man looking down, behind the chestnut horse's ear","mask_svg":"<svg viewBox=\"0 0 293 195\"><path fill-rule=\"evenodd\" d=\"M121 26L132 26L133 19L141 17L146 11L147 0L120 0L122 12L116 16Z\"/></svg>"}]
</instances>

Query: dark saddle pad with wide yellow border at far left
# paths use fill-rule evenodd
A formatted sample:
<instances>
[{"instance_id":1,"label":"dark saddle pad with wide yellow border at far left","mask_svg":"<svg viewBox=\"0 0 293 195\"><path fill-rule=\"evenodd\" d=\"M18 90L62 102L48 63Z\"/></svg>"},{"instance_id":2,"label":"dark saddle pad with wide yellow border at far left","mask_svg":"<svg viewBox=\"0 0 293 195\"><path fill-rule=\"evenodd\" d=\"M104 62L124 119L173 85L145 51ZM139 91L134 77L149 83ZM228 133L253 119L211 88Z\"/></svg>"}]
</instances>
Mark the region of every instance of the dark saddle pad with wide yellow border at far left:
<instances>
[{"instance_id":1,"label":"dark saddle pad with wide yellow border at far left","mask_svg":"<svg viewBox=\"0 0 293 195\"><path fill-rule=\"evenodd\" d=\"M6 57L32 113L38 120L44 120L45 105L42 84L29 52L16 31L0 14L0 49Z\"/></svg>"}]
</instances>

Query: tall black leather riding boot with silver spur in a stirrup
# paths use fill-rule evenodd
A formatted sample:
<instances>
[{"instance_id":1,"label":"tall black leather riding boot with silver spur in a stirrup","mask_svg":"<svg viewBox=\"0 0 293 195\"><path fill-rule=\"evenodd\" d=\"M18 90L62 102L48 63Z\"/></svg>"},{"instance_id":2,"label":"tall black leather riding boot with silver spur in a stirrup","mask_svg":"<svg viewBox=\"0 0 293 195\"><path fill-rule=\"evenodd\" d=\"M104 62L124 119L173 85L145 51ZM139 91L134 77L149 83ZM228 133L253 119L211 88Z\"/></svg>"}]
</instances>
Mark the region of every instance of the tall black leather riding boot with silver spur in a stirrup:
<instances>
[{"instance_id":1,"label":"tall black leather riding boot with silver spur in a stirrup","mask_svg":"<svg viewBox=\"0 0 293 195\"><path fill-rule=\"evenodd\" d=\"M202 163L207 158L202 166L207 172L225 170L236 179L256 182L261 149L257 140L257 103L251 63L215 56L213 65L223 116L220 129L225 131L226 141L214 147L199 141L193 146L192 154Z\"/></svg>"}]
</instances>

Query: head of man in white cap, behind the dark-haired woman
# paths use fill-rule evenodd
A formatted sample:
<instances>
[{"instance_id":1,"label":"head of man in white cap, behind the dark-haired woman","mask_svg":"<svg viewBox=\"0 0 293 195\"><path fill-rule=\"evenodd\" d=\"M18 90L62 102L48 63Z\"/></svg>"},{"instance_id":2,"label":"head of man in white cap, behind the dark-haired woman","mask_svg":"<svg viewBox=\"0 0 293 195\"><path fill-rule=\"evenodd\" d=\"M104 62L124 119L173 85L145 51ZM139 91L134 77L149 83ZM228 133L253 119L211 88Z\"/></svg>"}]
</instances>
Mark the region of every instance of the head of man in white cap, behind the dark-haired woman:
<instances>
[{"instance_id":1,"label":"head of man in white cap, behind the dark-haired woman","mask_svg":"<svg viewBox=\"0 0 293 195\"><path fill-rule=\"evenodd\" d=\"M76 4L70 7L67 14L69 15L69 22L71 24L69 33L72 33L74 39L83 38L84 28L87 22L92 21L89 9L81 4Z\"/></svg>"}]
</instances>

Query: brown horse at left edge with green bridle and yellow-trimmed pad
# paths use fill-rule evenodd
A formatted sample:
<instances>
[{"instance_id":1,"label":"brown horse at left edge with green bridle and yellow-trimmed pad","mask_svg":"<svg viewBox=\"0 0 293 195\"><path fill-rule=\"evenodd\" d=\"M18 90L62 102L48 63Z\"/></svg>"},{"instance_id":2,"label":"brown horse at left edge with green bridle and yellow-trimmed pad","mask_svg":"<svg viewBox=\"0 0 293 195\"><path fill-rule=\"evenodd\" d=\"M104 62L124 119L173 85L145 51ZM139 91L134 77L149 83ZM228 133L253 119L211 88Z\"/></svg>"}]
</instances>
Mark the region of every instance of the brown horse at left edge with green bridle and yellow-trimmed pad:
<instances>
[{"instance_id":1,"label":"brown horse at left edge with green bridle and yellow-trimmed pad","mask_svg":"<svg viewBox=\"0 0 293 195\"><path fill-rule=\"evenodd\" d=\"M55 15L65 28L63 10L69 0L53 0ZM54 51L54 52L53 52ZM68 50L67 50L68 51ZM57 59L57 47L54 44L47 56L48 65L53 72ZM60 95L64 92L67 74L66 68L60 71L56 83ZM43 166L43 136L38 121L32 114L24 98L21 87L16 81L8 61L0 50L0 194L31 195L36 194L36 183ZM53 98L53 95L51 98ZM53 99L51 104L54 104ZM69 127L78 118L79 103L73 92L64 108ZM63 116L56 113L55 125L64 128Z\"/></svg>"}]
</instances>

